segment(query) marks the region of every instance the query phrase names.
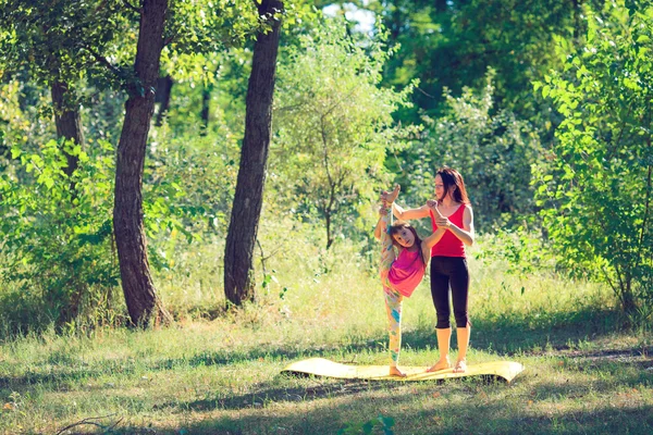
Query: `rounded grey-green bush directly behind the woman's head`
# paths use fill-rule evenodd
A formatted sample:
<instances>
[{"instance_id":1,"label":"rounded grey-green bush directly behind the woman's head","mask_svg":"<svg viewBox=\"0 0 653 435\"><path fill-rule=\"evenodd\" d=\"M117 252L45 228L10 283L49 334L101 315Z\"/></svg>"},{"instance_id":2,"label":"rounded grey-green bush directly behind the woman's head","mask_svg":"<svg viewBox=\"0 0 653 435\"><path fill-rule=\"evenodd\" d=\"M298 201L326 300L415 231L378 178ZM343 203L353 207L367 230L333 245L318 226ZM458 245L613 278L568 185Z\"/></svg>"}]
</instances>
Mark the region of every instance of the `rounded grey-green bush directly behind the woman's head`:
<instances>
[{"instance_id":1,"label":"rounded grey-green bush directly behind the woman's head","mask_svg":"<svg viewBox=\"0 0 653 435\"><path fill-rule=\"evenodd\" d=\"M540 142L530 124L508 110L493 111L494 74L476 94L465 88L455 98L445 91L447 110L424 117L427 133L402 164L407 197L424 203L433 195L433 174L443 165L459 171L475 210L475 226L491 231L519 222L533 211L530 165Z\"/></svg>"}]
</instances>

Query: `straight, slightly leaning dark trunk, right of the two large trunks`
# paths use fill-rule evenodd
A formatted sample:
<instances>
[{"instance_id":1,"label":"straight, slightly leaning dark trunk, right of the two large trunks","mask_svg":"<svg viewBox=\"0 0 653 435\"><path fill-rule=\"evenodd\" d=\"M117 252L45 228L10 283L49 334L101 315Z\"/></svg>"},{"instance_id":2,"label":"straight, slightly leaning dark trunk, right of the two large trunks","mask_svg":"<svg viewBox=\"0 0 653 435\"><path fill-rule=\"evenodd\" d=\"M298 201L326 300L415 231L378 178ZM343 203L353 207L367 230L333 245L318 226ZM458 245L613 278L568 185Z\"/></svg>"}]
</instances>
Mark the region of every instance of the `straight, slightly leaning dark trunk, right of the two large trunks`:
<instances>
[{"instance_id":1,"label":"straight, slightly leaning dark trunk, right of the two large trunks","mask_svg":"<svg viewBox=\"0 0 653 435\"><path fill-rule=\"evenodd\" d=\"M224 294L236 306L256 296L252 256L263 202L282 10L280 0L262 0L259 5L259 15L272 23L272 28L259 33L254 46L245 137L224 250Z\"/></svg>"}]
</instances>

